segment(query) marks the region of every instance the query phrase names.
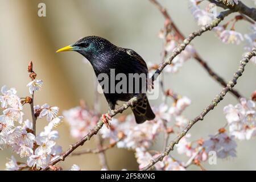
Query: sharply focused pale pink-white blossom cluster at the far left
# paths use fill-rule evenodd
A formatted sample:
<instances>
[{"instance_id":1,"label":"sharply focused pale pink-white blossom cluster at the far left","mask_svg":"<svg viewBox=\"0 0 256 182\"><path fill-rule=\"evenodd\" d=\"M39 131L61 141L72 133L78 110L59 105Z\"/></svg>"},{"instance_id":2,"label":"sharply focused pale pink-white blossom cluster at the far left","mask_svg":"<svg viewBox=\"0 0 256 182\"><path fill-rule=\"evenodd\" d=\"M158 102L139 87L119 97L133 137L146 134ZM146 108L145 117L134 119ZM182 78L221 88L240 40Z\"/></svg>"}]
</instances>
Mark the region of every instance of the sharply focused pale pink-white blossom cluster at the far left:
<instances>
[{"instance_id":1,"label":"sharply focused pale pink-white blossom cluster at the far left","mask_svg":"<svg viewBox=\"0 0 256 182\"><path fill-rule=\"evenodd\" d=\"M35 80L35 74L33 76L32 81L27 86L30 93L34 95L42 87L43 81ZM3 150L7 146L20 158L27 158L26 163L20 163L16 161L14 156L11 156L9 162L6 163L6 169L46 168L49 162L57 158L62 152L62 148L57 146L55 142L59 138L59 133L55 127L60 124L63 118L57 116L59 108L51 107L48 104L34 106L34 113L32 114L35 114L35 118L46 117L48 121L44 130L35 135L32 122L23 119L23 105L31 104L32 98L20 98L15 88L7 89L6 86L2 86L1 93L0 102L3 114L0 115L0 149Z\"/></svg>"}]
</instances>

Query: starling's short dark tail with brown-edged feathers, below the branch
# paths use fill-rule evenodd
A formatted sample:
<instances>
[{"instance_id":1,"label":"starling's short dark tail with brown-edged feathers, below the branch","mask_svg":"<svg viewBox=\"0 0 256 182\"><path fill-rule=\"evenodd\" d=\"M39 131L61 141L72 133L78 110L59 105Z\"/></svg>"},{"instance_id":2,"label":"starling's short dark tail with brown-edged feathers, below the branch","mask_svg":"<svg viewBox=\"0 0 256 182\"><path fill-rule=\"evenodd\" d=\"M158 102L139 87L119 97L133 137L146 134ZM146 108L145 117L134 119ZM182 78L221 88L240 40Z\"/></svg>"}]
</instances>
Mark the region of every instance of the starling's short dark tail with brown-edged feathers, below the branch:
<instances>
[{"instance_id":1,"label":"starling's short dark tail with brown-edged feathers, below the branch","mask_svg":"<svg viewBox=\"0 0 256 182\"><path fill-rule=\"evenodd\" d=\"M155 118L155 114L151 109L146 94L135 106L131 107L131 109L133 110L135 120L138 124Z\"/></svg>"}]
</instances>

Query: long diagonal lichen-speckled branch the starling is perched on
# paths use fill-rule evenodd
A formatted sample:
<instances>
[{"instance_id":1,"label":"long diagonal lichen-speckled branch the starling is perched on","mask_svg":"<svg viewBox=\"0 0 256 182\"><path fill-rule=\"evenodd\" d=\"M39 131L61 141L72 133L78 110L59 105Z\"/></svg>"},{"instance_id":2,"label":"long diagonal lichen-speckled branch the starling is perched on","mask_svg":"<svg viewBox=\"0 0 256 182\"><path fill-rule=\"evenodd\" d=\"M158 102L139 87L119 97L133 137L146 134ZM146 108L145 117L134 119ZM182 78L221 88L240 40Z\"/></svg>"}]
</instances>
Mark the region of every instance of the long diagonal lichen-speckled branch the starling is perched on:
<instances>
[{"instance_id":1,"label":"long diagonal lichen-speckled branch the starling is perched on","mask_svg":"<svg viewBox=\"0 0 256 182\"><path fill-rule=\"evenodd\" d=\"M163 69L168 65L172 63L172 60L179 55L182 51L184 51L184 49L188 46L189 43L191 43L191 41L193 39L195 39L197 36L200 36L201 34L203 34L206 31L212 30L213 27L218 26L218 24L221 22L221 20L223 20L225 18L225 16L228 16L229 14L233 13L232 10L227 10L227 11L223 11L222 13L220 13L220 15L218 15L218 17L216 19L213 20L212 23L208 24L207 26L201 27L199 31L195 31L193 32L191 35L189 35L189 37L187 39L184 39L183 43L181 43L172 53L172 55L169 57L169 59L167 61L165 61L163 64L161 64L159 66L159 68L155 71L155 74L151 77L152 82L154 82L154 80L156 80L156 78L159 76L160 73L162 73ZM109 112L110 117L114 117L115 115L117 115L118 113L122 113L124 110L126 110L128 107L134 106L135 104L137 104L137 101L139 100L139 98L141 98L141 95L135 96L133 98L131 98L129 101L127 101L125 104L123 104L121 107L118 107L115 110L111 110ZM82 138L81 140L79 140L78 142L76 142L75 144L72 144L69 148L69 150L67 150L66 152L64 152L64 154L60 155L59 158L56 158L55 160L53 160L51 163L49 163L49 166L53 166L56 163L60 162L61 160L64 161L65 158L67 158L67 156L69 154L71 154L71 152L73 152L74 150L76 150L77 147L82 146L86 141L90 140L90 138L93 137L93 135L96 135L98 133L98 131L101 129L101 127L104 125L102 118L100 119L100 121L98 121L97 125L89 131L89 133ZM48 170L49 167L45 168L44 170Z\"/></svg>"}]
</instances>

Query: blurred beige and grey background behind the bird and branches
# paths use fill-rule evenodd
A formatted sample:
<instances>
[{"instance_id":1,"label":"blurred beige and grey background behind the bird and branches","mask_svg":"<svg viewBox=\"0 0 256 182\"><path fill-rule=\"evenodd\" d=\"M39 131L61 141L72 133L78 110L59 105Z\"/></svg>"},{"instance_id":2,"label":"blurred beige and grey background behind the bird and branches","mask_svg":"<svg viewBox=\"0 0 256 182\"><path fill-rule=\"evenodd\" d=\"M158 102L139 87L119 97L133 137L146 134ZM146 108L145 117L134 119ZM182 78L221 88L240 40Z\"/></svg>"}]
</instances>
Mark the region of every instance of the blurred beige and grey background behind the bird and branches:
<instances>
[{"instance_id":1,"label":"blurred beige and grey background behind the bird and branches","mask_svg":"<svg viewBox=\"0 0 256 182\"><path fill-rule=\"evenodd\" d=\"M38 16L38 4L46 3L46 17ZM198 26L188 9L188 1L159 1L166 7L177 27L188 35ZM243 1L254 6L253 1ZM149 1L137 0L0 0L0 86L15 87L20 97L28 96L27 73L29 61L33 61L38 79L44 81L43 88L36 93L35 104L48 103L63 110L79 105L80 99L93 108L94 104L94 72L89 64L84 64L82 56L75 52L59 53L58 48L67 46L76 40L89 35L102 36L120 47L137 51L146 61L159 63L162 40L158 38L164 18L159 10ZM249 32L249 23L237 23L237 30ZM226 45L220 42L212 32L195 39L193 45L219 75L230 80L237 70L243 45ZM166 76L167 77L167 76ZM256 88L255 65L249 63L244 75L236 85L243 96L250 97ZM213 97L222 89L208 76L197 61L191 59L180 69L179 73L169 75L166 88L191 98L192 105L185 110L187 118L194 118ZM106 113L108 107L105 97L101 95L101 112ZM158 105L161 99L150 101ZM230 93L225 100L211 111L203 122L197 123L190 131L192 139L214 134L226 122L223 107L237 104ZM31 119L30 108L24 108L25 118ZM42 130L46 121L39 121L37 130ZM57 143L67 150L69 144L76 140L69 135L69 126L64 122L57 129L60 139ZM161 137L154 144L155 149L162 146ZM92 141L82 148L94 148ZM217 165L203 166L209 170L242 169L255 170L255 139L238 142L237 158L217 160ZM0 151L0 169L5 168L7 158L13 153L10 150ZM181 159L180 155L174 156ZM132 151L113 148L106 152L110 169L138 169ZM60 165L68 169L77 164L82 170L100 169L98 156L94 154L69 157ZM199 169L189 167L188 169Z\"/></svg>"}]
</instances>

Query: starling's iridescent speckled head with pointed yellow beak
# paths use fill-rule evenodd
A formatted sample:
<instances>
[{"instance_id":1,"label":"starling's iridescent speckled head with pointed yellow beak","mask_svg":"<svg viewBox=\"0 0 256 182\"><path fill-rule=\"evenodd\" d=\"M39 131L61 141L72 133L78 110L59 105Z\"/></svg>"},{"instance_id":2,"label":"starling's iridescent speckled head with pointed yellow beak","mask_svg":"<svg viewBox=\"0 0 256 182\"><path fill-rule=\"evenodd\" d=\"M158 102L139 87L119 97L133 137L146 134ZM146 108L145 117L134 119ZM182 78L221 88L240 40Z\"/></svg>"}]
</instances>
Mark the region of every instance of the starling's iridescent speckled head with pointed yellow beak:
<instances>
[{"instance_id":1,"label":"starling's iridescent speckled head with pointed yellow beak","mask_svg":"<svg viewBox=\"0 0 256 182\"><path fill-rule=\"evenodd\" d=\"M85 38L78 40L76 43L61 48L56 52L76 51L81 53L81 55L90 61L102 52L106 52L112 46L113 44L104 38L98 36L86 36Z\"/></svg>"}]
</instances>

